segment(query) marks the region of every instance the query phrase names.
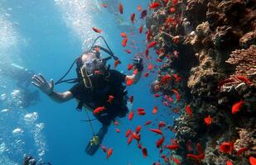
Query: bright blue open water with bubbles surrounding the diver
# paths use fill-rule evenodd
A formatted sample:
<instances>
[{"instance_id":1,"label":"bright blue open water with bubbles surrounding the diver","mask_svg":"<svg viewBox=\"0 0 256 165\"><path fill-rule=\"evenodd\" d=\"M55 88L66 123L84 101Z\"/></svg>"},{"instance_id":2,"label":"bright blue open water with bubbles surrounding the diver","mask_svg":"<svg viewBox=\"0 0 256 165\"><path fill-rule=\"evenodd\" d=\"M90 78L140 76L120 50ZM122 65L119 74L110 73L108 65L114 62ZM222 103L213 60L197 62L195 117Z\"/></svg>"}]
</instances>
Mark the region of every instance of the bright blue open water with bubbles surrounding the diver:
<instances>
[{"instance_id":1,"label":"bright blue open water with bubbles surrounding the diver","mask_svg":"<svg viewBox=\"0 0 256 165\"><path fill-rule=\"evenodd\" d=\"M0 2L0 59L8 63L19 64L35 73L42 73L48 80L55 81L65 73L74 59L92 44L98 34L92 31L92 26L102 29L103 35L115 54L123 62L117 69L123 73L127 65L132 63L135 53L145 50L145 34L138 34L138 26L145 25L139 20L138 4L147 8L149 1L120 1L124 13L110 13L104 7L97 7L97 1L92 0L2 0ZM118 1L113 1L114 8ZM112 11L113 12L113 11ZM117 11L118 12L118 9ZM129 16L137 14L137 23L130 28ZM121 26L118 19L123 19ZM133 31L138 50L126 54L121 45L121 32ZM145 32L145 28L143 32ZM151 52L156 58L156 54ZM154 63L154 60L145 62ZM114 64L114 61L111 62ZM69 78L75 77L75 69ZM40 92L41 100L36 105L26 108L19 106L18 90L15 79L2 77L0 80L0 163L22 164L22 158L31 154L36 159L51 162L54 165L80 164L152 164L159 158L155 145L160 136L153 134L147 127L142 126L142 146L147 148L148 157L143 158L142 152L133 141L127 145L125 132L128 128L135 130L137 125L143 125L147 120L155 123L156 119L164 120L171 125L173 116L166 106L162 106L160 98L154 98L149 92L148 85L157 78L151 73L148 78L142 77L138 84L128 87L128 95L134 96L133 110L143 107L147 115L135 115L132 121L127 117L118 120L120 125L111 125L103 144L113 148L114 153L106 159L106 153L99 150L94 157L85 154L85 146L92 136L89 124L85 120L85 111L75 111L76 101L63 104L51 101ZM61 84L55 87L58 92L65 92L72 85ZM35 87L30 87L36 90ZM13 93L14 92L14 93ZM12 93L12 94L11 94ZM16 98L13 98L15 95ZM7 97L6 97L7 96ZM8 97L9 96L9 97ZM14 105L7 104L14 101ZM158 106L157 115L152 115L153 106ZM8 111L2 111L8 109ZM28 114L28 115L27 115ZM27 117L25 117L27 116ZM165 116L165 118L163 118ZM34 117L34 118L33 118ZM94 130L99 129L99 123L94 121ZM156 128L157 125L152 126ZM115 131L118 128L121 132ZM149 127L148 127L149 128ZM150 127L151 128L151 127ZM20 130L17 130L20 129ZM13 132L13 130L15 130ZM165 131L166 143L171 139L171 131Z\"/></svg>"}]
</instances>

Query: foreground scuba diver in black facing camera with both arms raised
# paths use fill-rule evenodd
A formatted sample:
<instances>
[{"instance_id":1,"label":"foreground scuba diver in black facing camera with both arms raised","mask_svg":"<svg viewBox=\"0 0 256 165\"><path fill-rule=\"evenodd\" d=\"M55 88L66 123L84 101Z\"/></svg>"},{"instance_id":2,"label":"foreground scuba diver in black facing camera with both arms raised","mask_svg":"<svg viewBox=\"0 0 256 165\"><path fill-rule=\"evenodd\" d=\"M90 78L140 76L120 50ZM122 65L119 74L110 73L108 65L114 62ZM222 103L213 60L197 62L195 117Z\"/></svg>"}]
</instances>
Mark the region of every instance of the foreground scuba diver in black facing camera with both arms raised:
<instances>
[{"instance_id":1,"label":"foreground scuba diver in black facing camera with both arms raised","mask_svg":"<svg viewBox=\"0 0 256 165\"><path fill-rule=\"evenodd\" d=\"M96 40L99 38L104 40L102 36L99 36ZM94 44L96 40L94 40ZM116 57L112 50L110 50L109 45L105 40L104 43L109 50L93 44L89 51L85 51L75 59L70 69L76 64L77 78L63 80L63 78L70 72L69 69L68 72L55 83L76 82L75 86L71 87L70 90L66 92L54 91L53 80L51 79L51 82L47 82L46 78L41 74L34 75L32 78L33 82L31 82L53 101L65 102L72 98L77 99L79 103L76 109L78 111L81 111L83 106L85 107L85 111L94 111L98 108L102 109L102 111L99 111L98 113L95 113L96 110L94 111L94 117L102 124L98 134L94 134L91 124L92 120L87 120L93 131L93 138L87 145L85 152L91 156L98 150L104 139L104 135L107 134L111 122L114 121L116 117L122 118L128 113L127 91L122 83L130 79L133 79L133 84L137 83L139 78L141 78L143 69L142 59L140 58L133 58L133 67L138 69L137 74L125 75L117 70L110 69L110 65L106 66L106 62L109 59L118 60L118 57ZM110 56L103 59L99 54L99 51L95 51L97 49L103 50ZM119 61L119 63L121 62ZM110 96L114 98L112 101L109 101Z\"/></svg>"}]
</instances>

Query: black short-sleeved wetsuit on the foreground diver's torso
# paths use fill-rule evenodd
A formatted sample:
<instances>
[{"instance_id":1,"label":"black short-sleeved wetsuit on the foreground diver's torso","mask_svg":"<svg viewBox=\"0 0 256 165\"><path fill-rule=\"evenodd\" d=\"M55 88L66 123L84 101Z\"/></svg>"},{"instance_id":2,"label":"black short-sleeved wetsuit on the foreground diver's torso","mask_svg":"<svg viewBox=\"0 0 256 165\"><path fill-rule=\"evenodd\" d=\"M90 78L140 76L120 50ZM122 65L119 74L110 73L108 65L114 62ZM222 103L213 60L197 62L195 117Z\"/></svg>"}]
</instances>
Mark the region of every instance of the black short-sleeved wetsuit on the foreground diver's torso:
<instances>
[{"instance_id":1,"label":"black short-sleeved wetsuit on the foreground diver's torso","mask_svg":"<svg viewBox=\"0 0 256 165\"><path fill-rule=\"evenodd\" d=\"M75 84L70 88L73 97L79 101L83 101L86 106L95 109L99 106L104 106L105 111L99 114L94 114L95 118L103 125L110 125L111 121L117 116L123 117L128 113L126 102L123 101L122 85L125 82L126 75L117 70L110 69L110 76L104 80L103 78L93 81L93 89L85 88L82 82ZM114 96L114 100L110 103L108 101L109 95Z\"/></svg>"}]
</instances>

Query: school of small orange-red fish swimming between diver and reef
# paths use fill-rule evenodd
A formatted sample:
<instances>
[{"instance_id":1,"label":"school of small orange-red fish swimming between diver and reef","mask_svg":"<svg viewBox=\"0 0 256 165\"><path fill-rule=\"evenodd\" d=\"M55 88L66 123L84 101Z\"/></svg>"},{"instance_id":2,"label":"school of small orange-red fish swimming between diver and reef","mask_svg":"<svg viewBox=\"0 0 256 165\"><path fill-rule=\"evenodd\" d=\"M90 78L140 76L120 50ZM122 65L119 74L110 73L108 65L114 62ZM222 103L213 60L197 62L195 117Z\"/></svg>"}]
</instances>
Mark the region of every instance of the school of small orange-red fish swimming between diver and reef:
<instances>
[{"instance_id":1,"label":"school of small orange-red fish swimming between diver and reef","mask_svg":"<svg viewBox=\"0 0 256 165\"><path fill-rule=\"evenodd\" d=\"M176 12L176 4L178 3L178 0L162 0L161 3L160 2L151 2L150 4L148 4L148 8L144 9L144 10L142 9L141 5L138 5L137 10L138 10L138 12L140 14L139 19L141 21L143 21L143 19L147 16L147 11L151 12L152 9L156 9L157 7L162 7L162 5L166 5L167 2L171 2L170 12L171 13L175 13ZM102 4L102 7L108 7L108 6L106 4ZM123 14L124 8L123 8L123 4L122 3L119 3L118 11L119 11L120 15ZM136 21L137 21L137 19L136 19L136 12L133 12L131 14L130 21L131 21L131 26L133 26L136 23ZM175 26L176 23L177 23L177 21L173 17L169 17L166 20L166 26ZM96 27L92 27L92 30L94 32L96 32L96 33L101 33L102 32L102 30L100 30L100 29L98 29ZM161 31L161 28L159 29L159 31ZM142 34L142 32L143 32L143 26L139 26L138 27L138 34ZM147 32L145 33L145 35L146 35L146 41L147 41L146 50L144 52L142 52L142 53L138 53L137 55L140 55L140 56L145 55L145 59L149 60L149 59L151 59L149 57L149 50L154 48L155 45L157 45L157 41L156 40L152 40L150 29L147 29ZM128 41L129 41L128 40L128 33L126 31L123 31L120 34L120 36L123 38L123 40L121 42L121 45L123 46L123 48L127 47ZM173 37L172 41L174 43L178 43L179 42L179 38L178 37ZM132 40L131 41L131 45L134 45L134 43L135 43L135 41ZM125 49L123 51L126 52L127 54L132 54L132 52L133 52L133 50L128 50L128 49ZM156 50L156 53L157 53L157 55L162 54L162 50L161 49L160 50ZM174 57L178 58L178 54L179 54L179 52L174 50L172 55ZM166 56L168 56L168 55L169 54L167 54ZM161 63L162 59L157 58L156 61ZM120 64L119 61L115 60L114 61L114 67L117 67L118 64ZM147 70L144 73L144 77L145 78L147 78L149 76L150 72L153 72L152 71L153 68L157 68L157 65L153 65L152 63L148 63L147 64ZM133 69L133 73L134 74L138 73L138 70L136 68L133 68L133 64L128 64L128 70L132 70L132 69ZM166 75L162 75L162 78L161 78L161 81L160 81L160 85L167 84L171 78L175 78L175 82L180 82L180 80L181 80L181 77L179 77L177 74L173 74L173 75L166 74ZM237 76L235 78L245 82L247 85L251 84L249 79L245 78L243 76ZM225 83L233 82L233 81L234 81L234 78L225 79L225 80L219 82L219 88L222 87L223 85L225 85ZM126 85L130 86L132 84L133 84L133 79L128 79L127 82L126 82ZM178 92L177 89L172 89L171 92L173 92L175 94L176 102L181 100L181 95L180 95L180 93ZM168 106L170 103L173 103L172 97L169 97L167 95L162 96L160 93L155 93L155 94L153 94L153 97L164 97L167 100L167 101L163 101L162 102L165 106ZM108 101L111 103L111 101L113 101L113 100L114 100L114 97L113 96L109 96L109 100ZM129 97L129 101L133 102L133 96ZM232 106L232 109L230 110L232 112L232 114L235 114L238 111L240 111L240 109L243 106L243 104L244 104L243 100L234 103L234 105ZM193 110L191 109L190 105L186 105L186 107L184 109L185 109L187 115L189 115L190 117L193 117ZM98 108L96 108L94 110L94 114L99 113L99 112L104 111L104 110L105 110L104 106L98 107ZM154 106L153 109L152 109L152 114L157 114L157 111L158 111L157 106ZM178 108L175 108L173 110L173 112L175 112L175 113L178 113L179 111L180 110ZM133 116L134 115L136 115L136 113L134 111L130 111L129 114L128 114L128 120L133 120ZM146 111L144 110L144 108L138 107L137 115L138 116L146 115ZM210 126L212 124L213 120L212 120L210 115L207 115L207 116L205 116L204 122L205 122L204 123L205 125ZM145 124L143 124L143 125L147 128L147 130L152 131L152 133L158 134L160 136L160 139L158 139L157 142L156 142L156 147L159 148L160 158L162 158L165 163L169 163L169 162L172 161L173 163L181 164L181 160L179 160L178 158L175 158L175 156L173 154L169 153L170 154L169 156L167 156L166 154L163 154L164 150L175 151L175 150L179 149L179 142L176 139L171 139L169 143L164 144L164 142L166 140L165 140L165 136L164 136L164 134L162 132L162 128L167 128L167 129L171 130L174 133L176 132L176 130L174 130L170 125L167 126L166 123L163 122L163 121L159 121L157 128L148 128L148 125L151 125L151 124L152 124L152 120L147 120L147 122ZM118 122L115 121L114 125L118 125ZM120 130L118 130L118 128L116 128L115 130L116 130L117 133L120 133ZM136 140L137 147L139 149L141 149L141 151L142 151L142 157L143 158L147 158L147 154L148 154L147 153L147 148L143 147L142 143L141 143L141 134L140 134L141 130L142 130L142 125L138 125L135 130L128 129L125 132L125 137L127 138L127 144L128 145ZM109 158L112 155L113 148L109 148L108 149L104 145L101 145L101 148L104 151L104 153L107 154L106 158ZM193 158L193 159L196 159L199 162L200 162L200 160L205 158L204 150L200 146L199 143L196 144L196 153L198 153L198 154L192 154L192 153L194 153L194 148L191 147L191 141L188 141L186 143L186 149L189 152L191 152L191 153L188 153L186 155L187 158ZM241 155L247 149L248 148L239 148L238 151L234 152L234 142L232 142L232 141L223 142L219 146L219 150L220 150L221 153L229 154L229 155L236 156L236 157L239 157L239 155ZM249 163L251 165L256 165L256 158L254 158L253 156L249 157ZM152 164L153 165L160 165L159 162L152 163ZM226 164L227 165L232 165L233 163L228 160L226 162Z\"/></svg>"}]
</instances>

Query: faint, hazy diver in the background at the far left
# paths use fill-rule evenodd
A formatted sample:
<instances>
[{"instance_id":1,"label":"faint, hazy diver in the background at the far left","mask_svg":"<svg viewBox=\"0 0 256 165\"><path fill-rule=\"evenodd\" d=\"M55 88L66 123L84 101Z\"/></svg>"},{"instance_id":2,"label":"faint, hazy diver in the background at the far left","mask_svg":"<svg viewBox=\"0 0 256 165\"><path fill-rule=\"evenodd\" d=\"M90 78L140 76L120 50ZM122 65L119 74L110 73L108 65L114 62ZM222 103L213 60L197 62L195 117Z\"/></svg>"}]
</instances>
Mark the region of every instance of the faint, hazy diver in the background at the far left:
<instances>
[{"instance_id":1,"label":"faint, hazy diver in the background at the far left","mask_svg":"<svg viewBox=\"0 0 256 165\"><path fill-rule=\"evenodd\" d=\"M34 72L14 63L3 63L0 64L0 66L0 74L2 74L2 76L12 78L12 80L16 81L22 101L21 106L23 108L35 105L36 102L40 100L38 90L31 90L29 88L31 77L35 74Z\"/></svg>"}]
</instances>

